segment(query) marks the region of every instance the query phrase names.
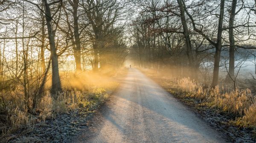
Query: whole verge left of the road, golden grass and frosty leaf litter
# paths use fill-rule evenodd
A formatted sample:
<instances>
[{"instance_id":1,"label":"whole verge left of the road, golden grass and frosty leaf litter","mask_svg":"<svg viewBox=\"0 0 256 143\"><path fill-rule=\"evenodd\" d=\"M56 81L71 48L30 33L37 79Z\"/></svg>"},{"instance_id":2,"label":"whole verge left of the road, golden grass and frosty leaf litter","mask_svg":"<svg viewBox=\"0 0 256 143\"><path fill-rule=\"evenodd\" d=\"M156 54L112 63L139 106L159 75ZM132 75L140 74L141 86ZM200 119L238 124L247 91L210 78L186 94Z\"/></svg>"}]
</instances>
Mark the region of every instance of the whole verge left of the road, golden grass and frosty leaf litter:
<instances>
[{"instance_id":1,"label":"whole verge left of the road, golden grass and frosty leaf litter","mask_svg":"<svg viewBox=\"0 0 256 143\"><path fill-rule=\"evenodd\" d=\"M0 142L67 142L118 86L116 73L81 73L62 80L63 93L53 100L48 91L40 98L35 114L10 104L0 112ZM1 108L0 108L1 109ZM7 111L7 112L6 112Z\"/></svg>"}]
</instances>

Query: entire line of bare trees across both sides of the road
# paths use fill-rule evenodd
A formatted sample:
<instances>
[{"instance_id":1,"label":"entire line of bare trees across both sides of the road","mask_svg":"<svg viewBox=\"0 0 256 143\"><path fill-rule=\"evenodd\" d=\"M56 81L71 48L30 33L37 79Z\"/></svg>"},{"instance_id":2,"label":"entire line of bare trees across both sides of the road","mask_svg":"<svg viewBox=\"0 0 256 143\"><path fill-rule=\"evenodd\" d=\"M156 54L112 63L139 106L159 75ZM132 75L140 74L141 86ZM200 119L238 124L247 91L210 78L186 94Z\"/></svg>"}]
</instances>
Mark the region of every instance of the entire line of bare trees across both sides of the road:
<instances>
[{"instance_id":1,"label":"entire line of bare trees across both sides of the road","mask_svg":"<svg viewBox=\"0 0 256 143\"><path fill-rule=\"evenodd\" d=\"M235 84L241 68L235 62L255 59L255 3L0 0L1 104L19 98L33 109L47 79L56 99L66 70L98 72L128 58L139 67L172 66L193 79L212 67L212 87L226 67L227 81Z\"/></svg>"}]
</instances>

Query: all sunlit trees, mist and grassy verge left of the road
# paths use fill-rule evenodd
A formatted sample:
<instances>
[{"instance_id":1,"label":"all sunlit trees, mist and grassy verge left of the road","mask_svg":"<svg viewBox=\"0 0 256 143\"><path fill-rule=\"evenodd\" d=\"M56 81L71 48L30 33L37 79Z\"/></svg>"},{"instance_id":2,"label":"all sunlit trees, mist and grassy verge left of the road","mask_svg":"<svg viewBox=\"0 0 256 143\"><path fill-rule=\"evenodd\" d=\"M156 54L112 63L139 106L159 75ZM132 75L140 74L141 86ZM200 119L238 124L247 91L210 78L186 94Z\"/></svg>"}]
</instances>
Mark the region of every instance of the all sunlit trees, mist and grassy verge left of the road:
<instances>
[{"instance_id":1,"label":"all sunlit trees, mist and grassy verge left of the road","mask_svg":"<svg viewBox=\"0 0 256 143\"><path fill-rule=\"evenodd\" d=\"M125 75L129 5L0 0L0 142L68 142Z\"/></svg>"}]
</instances>

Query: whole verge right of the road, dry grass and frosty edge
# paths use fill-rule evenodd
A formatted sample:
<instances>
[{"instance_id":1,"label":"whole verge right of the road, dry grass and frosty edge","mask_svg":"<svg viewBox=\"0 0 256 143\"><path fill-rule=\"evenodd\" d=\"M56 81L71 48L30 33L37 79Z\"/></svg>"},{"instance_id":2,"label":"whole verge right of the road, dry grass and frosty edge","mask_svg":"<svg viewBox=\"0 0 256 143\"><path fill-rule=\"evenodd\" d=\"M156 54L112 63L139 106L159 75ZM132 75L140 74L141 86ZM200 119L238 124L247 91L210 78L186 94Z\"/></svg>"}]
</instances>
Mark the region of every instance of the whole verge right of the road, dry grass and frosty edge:
<instances>
[{"instance_id":1,"label":"whole verge right of the road, dry grass and frosty edge","mask_svg":"<svg viewBox=\"0 0 256 143\"><path fill-rule=\"evenodd\" d=\"M224 131L230 141L256 141L256 98L249 89L211 88L189 78L175 79L154 70L142 71L212 126Z\"/></svg>"}]
</instances>

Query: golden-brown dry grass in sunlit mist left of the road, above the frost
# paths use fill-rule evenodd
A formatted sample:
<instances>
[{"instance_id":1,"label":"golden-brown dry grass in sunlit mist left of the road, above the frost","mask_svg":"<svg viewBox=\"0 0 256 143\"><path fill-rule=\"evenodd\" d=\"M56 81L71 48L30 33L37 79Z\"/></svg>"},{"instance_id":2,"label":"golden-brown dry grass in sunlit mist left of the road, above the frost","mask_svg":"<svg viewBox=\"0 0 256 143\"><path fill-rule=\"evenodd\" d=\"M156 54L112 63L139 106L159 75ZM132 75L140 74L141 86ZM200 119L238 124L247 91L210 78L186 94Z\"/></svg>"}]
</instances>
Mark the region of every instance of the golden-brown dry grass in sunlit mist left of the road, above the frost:
<instances>
[{"instance_id":1,"label":"golden-brown dry grass in sunlit mist left of the road, above the frost","mask_svg":"<svg viewBox=\"0 0 256 143\"><path fill-rule=\"evenodd\" d=\"M36 108L33 109L32 112L35 114L28 112L23 102L18 99L19 96L17 99L10 99L4 109L0 106L0 139L23 128L33 129L35 123L72 112L76 108L82 108L85 111L96 109L118 86L113 76L118 76L119 73L126 73L126 71L122 69L100 73L84 72L78 75L66 74L61 80L63 93L59 93L57 100L53 100L47 90L38 101ZM6 101L9 99L7 96ZM15 106L13 101L15 101Z\"/></svg>"}]
</instances>

